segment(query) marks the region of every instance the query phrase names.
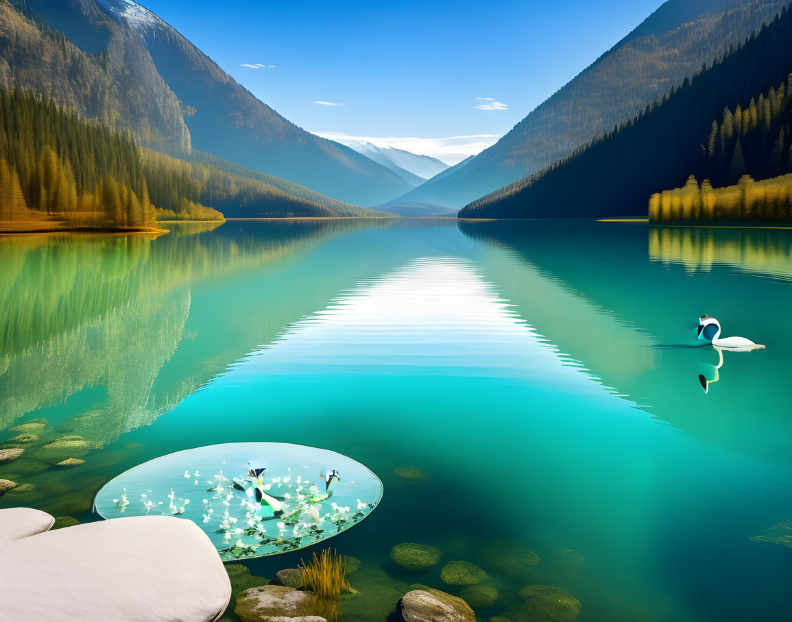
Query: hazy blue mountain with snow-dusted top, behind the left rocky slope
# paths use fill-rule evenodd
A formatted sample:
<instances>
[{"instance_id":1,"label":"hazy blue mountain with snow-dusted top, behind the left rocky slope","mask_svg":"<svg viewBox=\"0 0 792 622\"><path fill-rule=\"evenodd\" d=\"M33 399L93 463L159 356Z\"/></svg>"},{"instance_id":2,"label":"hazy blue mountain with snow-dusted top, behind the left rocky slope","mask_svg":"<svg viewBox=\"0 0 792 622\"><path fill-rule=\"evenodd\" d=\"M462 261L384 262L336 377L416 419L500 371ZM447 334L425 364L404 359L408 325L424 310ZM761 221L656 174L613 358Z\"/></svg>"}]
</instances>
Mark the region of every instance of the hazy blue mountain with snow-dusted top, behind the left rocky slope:
<instances>
[{"instance_id":1,"label":"hazy blue mountain with snow-dusted top, behind the left rocky slope","mask_svg":"<svg viewBox=\"0 0 792 622\"><path fill-rule=\"evenodd\" d=\"M185 122L198 149L346 203L374 205L409 189L384 166L284 119L154 13L131 0L97 2L138 34L159 74L194 109Z\"/></svg>"}]
</instances>

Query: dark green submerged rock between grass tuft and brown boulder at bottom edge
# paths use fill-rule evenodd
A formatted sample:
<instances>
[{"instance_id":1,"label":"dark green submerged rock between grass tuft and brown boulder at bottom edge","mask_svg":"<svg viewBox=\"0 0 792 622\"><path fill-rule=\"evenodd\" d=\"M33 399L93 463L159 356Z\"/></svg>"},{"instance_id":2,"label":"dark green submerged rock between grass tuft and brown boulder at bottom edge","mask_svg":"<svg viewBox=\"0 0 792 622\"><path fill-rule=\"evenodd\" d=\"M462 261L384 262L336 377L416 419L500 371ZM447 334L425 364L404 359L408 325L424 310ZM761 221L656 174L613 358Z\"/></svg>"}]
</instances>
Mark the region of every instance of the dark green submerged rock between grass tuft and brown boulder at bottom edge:
<instances>
[{"instance_id":1,"label":"dark green submerged rock between grass tuft and brown boulder at bottom edge","mask_svg":"<svg viewBox=\"0 0 792 622\"><path fill-rule=\"evenodd\" d=\"M391 578L379 566L366 563L348 579L352 593L341 594L338 603L343 622L388 622L399 599L410 590L409 585Z\"/></svg>"}]
</instances>

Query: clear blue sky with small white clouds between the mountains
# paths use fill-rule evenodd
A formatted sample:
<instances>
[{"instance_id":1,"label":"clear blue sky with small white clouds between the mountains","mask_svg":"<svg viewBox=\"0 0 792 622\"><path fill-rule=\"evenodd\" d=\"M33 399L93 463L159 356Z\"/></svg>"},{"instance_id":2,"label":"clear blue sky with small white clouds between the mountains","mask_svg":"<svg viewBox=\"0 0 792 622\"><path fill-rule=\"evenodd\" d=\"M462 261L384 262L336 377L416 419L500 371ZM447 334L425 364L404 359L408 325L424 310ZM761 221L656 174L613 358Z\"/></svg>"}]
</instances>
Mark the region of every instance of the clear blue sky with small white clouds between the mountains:
<instances>
[{"instance_id":1,"label":"clear blue sky with small white clouds between the mountains","mask_svg":"<svg viewBox=\"0 0 792 622\"><path fill-rule=\"evenodd\" d=\"M661 3L141 2L300 127L451 163L495 142Z\"/></svg>"}]
</instances>

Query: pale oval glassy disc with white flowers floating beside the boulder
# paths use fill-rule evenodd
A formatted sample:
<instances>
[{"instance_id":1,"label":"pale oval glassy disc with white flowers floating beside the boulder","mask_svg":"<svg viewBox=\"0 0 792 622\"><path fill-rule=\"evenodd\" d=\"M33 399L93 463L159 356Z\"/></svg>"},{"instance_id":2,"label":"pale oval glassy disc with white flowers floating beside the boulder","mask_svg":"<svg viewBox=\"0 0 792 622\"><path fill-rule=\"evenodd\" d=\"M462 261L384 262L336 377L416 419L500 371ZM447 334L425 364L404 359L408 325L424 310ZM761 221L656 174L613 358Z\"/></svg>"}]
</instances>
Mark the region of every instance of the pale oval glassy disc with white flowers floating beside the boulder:
<instances>
[{"instance_id":1,"label":"pale oval glassy disc with white flowers floating beside the boulder","mask_svg":"<svg viewBox=\"0 0 792 622\"><path fill-rule=\"evenodd\" d=\"M223 559L243 559L293 551L341 533L371 513L382 492L374 473L339 453L286 443L228 443L132 468L99 491L96 508L104 518L188 518Z\"/></svg>"}]
</instances>

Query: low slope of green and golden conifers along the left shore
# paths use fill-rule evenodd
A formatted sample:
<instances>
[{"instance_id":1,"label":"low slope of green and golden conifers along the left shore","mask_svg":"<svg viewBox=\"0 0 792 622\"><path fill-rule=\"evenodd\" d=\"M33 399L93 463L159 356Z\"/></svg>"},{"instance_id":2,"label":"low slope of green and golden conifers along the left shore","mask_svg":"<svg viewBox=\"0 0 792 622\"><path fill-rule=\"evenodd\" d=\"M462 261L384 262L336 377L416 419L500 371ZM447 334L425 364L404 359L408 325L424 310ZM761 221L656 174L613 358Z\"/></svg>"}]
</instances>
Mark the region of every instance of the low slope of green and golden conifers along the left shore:
<instances>
[{"instance_id":1,"label":"low slope of green and golden conifers along the left shore","mask_svg":"<svg viewBox=\"0 0 792 622\"><path fill-rule=\"evenodd\" d=\"M202 160L140 147L49 98L0 91L0 231L143 229L155 218L223 219L205 205L249 217L391 215L216 157Z\"/></svg>"}]
</instances>

